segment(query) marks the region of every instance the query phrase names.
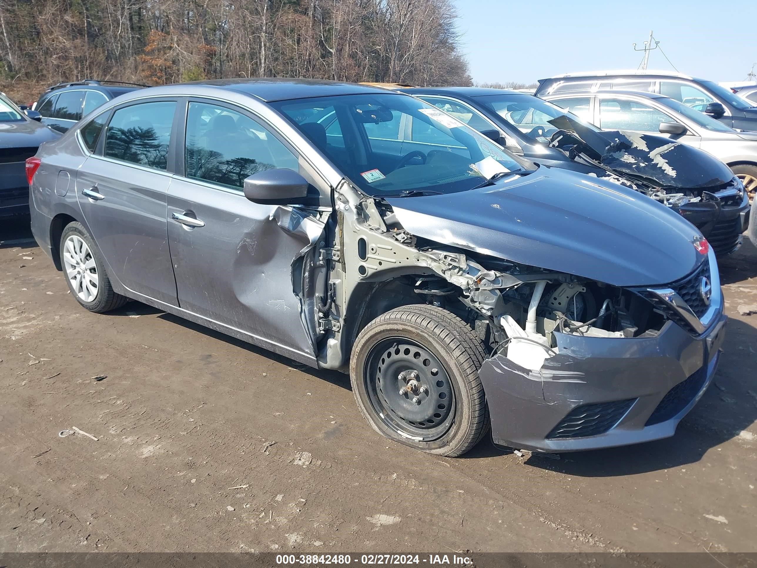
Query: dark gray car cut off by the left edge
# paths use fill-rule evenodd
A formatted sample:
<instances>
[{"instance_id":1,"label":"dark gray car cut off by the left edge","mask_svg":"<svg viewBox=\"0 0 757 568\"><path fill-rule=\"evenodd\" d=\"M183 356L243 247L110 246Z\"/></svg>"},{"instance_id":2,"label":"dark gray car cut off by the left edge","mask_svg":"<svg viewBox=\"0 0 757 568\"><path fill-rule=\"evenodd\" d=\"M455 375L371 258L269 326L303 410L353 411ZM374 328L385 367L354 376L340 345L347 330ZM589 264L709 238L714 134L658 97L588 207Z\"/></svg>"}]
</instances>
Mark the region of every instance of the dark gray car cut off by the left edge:
<instances>
[{"instance_id":1,"label":"dark gray car cut off by the left edge","mask_svg":"<svg viewBox=\"0 0 757 568\"><path fill-rule=\"evenodd\" d=\"M58 136L0 93L0 217L29 213L26 158L36 154L42 142Z\"/></svg>"}]
</instances>

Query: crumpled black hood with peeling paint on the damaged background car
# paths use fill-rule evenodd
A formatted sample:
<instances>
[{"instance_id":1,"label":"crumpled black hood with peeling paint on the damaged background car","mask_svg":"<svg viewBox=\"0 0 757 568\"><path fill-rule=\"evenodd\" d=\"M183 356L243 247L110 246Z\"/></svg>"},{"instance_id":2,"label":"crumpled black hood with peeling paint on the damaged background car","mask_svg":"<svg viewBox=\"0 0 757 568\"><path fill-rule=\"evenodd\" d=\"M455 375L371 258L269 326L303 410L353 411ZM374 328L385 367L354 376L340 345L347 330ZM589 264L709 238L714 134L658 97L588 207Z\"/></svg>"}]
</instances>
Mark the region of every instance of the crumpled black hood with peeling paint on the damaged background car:
<instances>
[{"instance_id":1,"label":"crumpled black hood with peeling paint on the damaged background car","mask_svg":"<svg viewBox=\"0 0 757 568\"><path fill-rule=\"evenodd\" d=\"M597 132L565 115L550 123L584 142L589 158L632 181L660 189L717 191L734 178L734 173L711 154L665 136L626 130ZM560 139L558 133L550 145L569 151L570 138Z\"/></svg>"}]
</instances>

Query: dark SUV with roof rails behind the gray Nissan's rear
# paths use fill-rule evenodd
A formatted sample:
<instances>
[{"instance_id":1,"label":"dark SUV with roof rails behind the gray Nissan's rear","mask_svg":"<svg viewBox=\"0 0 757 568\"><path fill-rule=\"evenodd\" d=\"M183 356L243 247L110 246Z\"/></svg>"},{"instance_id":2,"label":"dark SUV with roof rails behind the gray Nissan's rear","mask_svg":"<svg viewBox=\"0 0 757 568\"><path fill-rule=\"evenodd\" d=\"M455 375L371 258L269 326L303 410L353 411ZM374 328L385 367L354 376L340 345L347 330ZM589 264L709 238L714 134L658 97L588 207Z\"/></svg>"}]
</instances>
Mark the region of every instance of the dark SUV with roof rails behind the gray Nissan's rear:
<instances>
[{"instance_id":1,"label":"dark SUV with roof rails behind the gray Nissan's rear","mask_svg":"<svg viewBox=\"0 0 757 568\"><path fill-rule=\"evenodd\" d=\"M111 98L146 86L139 83L92 79L75 83L58 83L42 93L34 109L42 114L42 123L58 132L66 132L81 117L86 117Z\"/></svg>"}]
</instances>

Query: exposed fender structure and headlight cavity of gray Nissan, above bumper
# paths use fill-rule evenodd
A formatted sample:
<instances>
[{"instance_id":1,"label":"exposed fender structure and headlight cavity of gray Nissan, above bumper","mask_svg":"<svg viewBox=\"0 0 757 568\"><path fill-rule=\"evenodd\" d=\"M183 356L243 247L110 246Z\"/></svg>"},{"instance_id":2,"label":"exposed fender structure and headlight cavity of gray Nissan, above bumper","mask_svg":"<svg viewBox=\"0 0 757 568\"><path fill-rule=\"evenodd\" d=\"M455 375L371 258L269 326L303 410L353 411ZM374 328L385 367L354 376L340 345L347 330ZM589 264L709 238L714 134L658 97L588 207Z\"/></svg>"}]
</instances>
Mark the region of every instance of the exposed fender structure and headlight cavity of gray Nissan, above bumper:
<instances>
[{"instance_id":1,"label":"exposed fender structure and headlight cavity of gray Nissan, above bumper","mask_svg":"<svg viewBox=\"0 0 757 568\"><path fill-rule=\"evenodd\" d=\"M539 370L559 353L557 334L600 338L656 335L665 318L629 289L432 242L403 229L389 204L346 180L329 294L321 299L319 363L344 364L351 337L394 307L426 303L469 323L490 354ZM345 258L341 251L356 251ZM352 275L357 276L357 279ZM359 312L360 318L344 320ZM360 322L363 322L362 324Z\"/></svg>"}]
</instances>

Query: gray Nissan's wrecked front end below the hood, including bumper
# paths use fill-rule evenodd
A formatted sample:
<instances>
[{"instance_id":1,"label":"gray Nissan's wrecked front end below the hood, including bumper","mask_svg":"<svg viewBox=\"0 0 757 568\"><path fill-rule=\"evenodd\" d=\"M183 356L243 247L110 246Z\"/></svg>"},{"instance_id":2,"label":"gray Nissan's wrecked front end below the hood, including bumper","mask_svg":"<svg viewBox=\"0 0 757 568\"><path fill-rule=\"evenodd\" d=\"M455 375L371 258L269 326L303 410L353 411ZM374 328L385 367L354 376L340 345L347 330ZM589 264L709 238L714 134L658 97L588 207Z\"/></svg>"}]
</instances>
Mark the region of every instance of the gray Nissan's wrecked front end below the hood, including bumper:
<instances>
[{"instance_id":1,"label":"gray Nissan's wrecked front end below the hood, including bumper","mask_svg":"<svg viewBox=\"0 0 757 568\"><path fill-rule=\"evenodd\" d=\"M471 207L476 195L465 195ZM725 320L712 251L691 248L693 270L667 287L628 286L630 275L608 283L559 270L558 260L551 270L523 262L516 250L492 254L476 238L483 228L464 241L450 220L421 220L400 208L405 203L368 198L347 180L336 189L322 367L344 368L362 326L385 311L444 307L469 324L488 353L479 376L494 442L534 451L672 435L712 380ZM583 272L575 257L565 262ZM594 275L619 273L609 270ZM711 293L697 303L702 279Z\"/></svg>"}]
</instances>

